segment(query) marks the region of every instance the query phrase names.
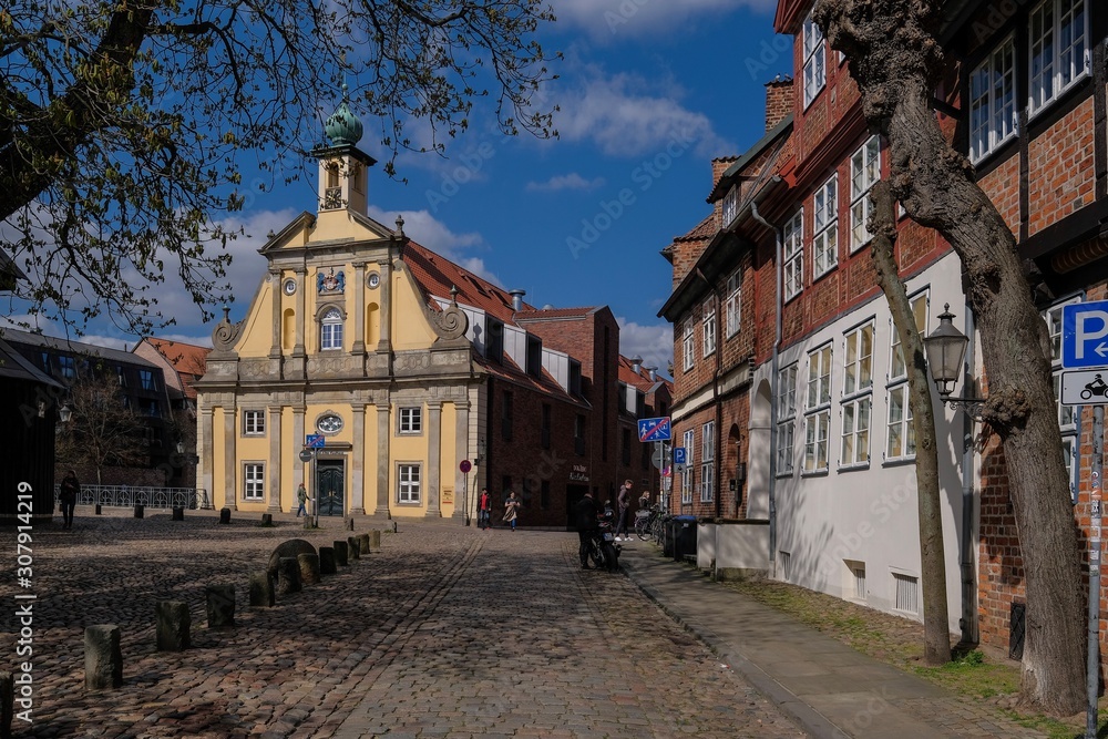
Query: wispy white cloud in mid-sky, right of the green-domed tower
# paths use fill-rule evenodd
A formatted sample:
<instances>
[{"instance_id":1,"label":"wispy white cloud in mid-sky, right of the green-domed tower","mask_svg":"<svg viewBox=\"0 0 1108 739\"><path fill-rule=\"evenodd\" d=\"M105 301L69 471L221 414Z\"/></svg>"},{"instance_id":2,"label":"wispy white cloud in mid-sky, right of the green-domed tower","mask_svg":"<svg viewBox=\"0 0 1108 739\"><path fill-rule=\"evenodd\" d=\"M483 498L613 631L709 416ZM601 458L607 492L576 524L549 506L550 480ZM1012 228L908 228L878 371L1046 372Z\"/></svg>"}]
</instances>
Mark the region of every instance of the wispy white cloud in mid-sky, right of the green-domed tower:
<instances>
[{"instance_id":1,"label":"wispy white cloud in mid-sky, right of the green-domed tower","mask_svg":"<svg viewBox=\"0 0 1108 739\"><path fill-rule=\"evenodd\" d=\"M658 95L658 81L636 74L592 79L562 95L556 124L566 141L593 141L608 155L639 156L668 152L671 156L694 150L697 156L732 154L735 144L718 135L711 121L679 102L680 90L669 85Z\"/></svg>"}]
</instances>

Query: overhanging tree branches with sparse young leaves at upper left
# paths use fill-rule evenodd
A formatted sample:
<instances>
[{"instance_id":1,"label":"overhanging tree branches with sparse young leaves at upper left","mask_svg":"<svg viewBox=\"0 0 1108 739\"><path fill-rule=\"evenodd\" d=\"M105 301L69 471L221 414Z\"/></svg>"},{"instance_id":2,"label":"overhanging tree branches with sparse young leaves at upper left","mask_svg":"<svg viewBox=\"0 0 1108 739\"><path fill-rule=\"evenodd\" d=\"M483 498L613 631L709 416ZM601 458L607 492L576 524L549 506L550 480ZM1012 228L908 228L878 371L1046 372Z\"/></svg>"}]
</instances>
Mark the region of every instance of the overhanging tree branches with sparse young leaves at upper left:
<instances>
[{"instance_id":1,"label":"overhanging tree branches with sparse young leaves at upper left","mask_svg":"<svg viewBox=\"0 0 1108 739\"><path fill-rule=\"evenodd\" d=\"M297 178L343 83L392 176L402 151L442 153L480 99L505 134L556 135L535 97L553 20L545 0L0 9L0 252L28 277L14 298L79 330L107 315L146 333L174 322L156 294L179 280L207 319L239 234L220 219ZM268 182L245 185L255 168Z\"/></svg>"}]
</instances>

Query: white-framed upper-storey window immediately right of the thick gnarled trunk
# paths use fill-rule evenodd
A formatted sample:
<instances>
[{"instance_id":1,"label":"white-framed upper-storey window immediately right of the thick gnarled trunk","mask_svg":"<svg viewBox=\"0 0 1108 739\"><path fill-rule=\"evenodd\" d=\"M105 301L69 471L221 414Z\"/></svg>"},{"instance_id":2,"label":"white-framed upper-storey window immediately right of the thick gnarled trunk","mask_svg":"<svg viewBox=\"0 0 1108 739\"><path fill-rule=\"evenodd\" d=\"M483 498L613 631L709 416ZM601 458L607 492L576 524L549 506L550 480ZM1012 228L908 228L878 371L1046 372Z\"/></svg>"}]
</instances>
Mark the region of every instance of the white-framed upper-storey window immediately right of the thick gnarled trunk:
<instances>
[{"instance_id":1,"label":"white-framed upper-storey window immediately right of the thick gnarled trunk","mask_svg":"<svg viewBox=\"0 0 1108 739\"><path fill-rule=\"evenodd\" d=\"M1016 133L1016 50L1009 37L970 73L970 160Z\"/></svg>"}]
</instances>

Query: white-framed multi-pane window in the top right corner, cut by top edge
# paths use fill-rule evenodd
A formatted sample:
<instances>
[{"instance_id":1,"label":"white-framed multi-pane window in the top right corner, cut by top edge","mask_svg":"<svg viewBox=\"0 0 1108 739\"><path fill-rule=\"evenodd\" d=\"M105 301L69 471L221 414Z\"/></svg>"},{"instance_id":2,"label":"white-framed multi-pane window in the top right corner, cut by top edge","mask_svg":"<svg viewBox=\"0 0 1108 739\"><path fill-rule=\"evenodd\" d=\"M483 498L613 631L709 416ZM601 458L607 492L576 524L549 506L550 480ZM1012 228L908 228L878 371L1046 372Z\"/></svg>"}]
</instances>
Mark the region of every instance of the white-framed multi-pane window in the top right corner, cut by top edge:
<instances>
[{"instance_id":1,"label":"white-framed multi-pane window in the top right corner, cut by top edge","mask_svg":"<svg viewBox=\"0 0 1108 739\"><path fill-rule=\"evenodd\" d=\"M1034 115L1089 73L1087 0L1046 0L1030 13L1030 85Z\"/></svg>"}]
</instances>

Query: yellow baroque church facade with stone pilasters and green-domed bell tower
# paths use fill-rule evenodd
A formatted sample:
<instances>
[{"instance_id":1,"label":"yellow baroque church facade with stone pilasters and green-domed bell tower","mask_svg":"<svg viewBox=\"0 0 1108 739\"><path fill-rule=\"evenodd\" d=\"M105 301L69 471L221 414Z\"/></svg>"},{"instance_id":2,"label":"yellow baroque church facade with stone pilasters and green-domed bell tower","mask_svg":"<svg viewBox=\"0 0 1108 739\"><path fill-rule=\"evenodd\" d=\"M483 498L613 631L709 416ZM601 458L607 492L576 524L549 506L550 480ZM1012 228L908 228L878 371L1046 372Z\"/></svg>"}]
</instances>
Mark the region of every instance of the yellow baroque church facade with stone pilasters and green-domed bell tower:
<instances>
[{"instance_id":1,"label":"yellow baroque church facade with stone pilasters and green-domed bell tower","mask_svg":"<svg viewBox=\"0 0 1108 739\"><path fill-rule=\"evenodd\" d=\"M196 382L197 484L236 511L295 511L302 482L321 515L462 517L478 471L460 465L484 408L466 314L429 302L402 258L402 220L366 215L375 162L345 102L326 130L317 213L266 243L246 317L225 309L213 331ZM302 461L309 435L324 444Z\"/></svg>"}]
</instances>

